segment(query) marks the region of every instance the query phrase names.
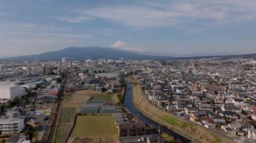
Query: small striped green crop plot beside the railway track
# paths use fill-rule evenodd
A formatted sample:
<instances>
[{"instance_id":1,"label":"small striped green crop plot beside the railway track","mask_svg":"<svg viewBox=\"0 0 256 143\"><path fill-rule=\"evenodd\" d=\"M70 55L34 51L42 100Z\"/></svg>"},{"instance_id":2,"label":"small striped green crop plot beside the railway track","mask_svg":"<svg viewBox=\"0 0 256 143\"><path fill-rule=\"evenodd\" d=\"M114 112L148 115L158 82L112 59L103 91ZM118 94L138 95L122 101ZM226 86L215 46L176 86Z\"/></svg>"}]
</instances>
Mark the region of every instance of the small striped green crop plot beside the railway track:
<instances>
[{"instance_id":1,"label":"small striped green crop plot beside the railway track","mask_svg":"<svg viewBox=\"0 0 256 143\"><path fill-rule=\"evenodd\" d=\"M61 117L59 124L67 124L73 121L75 116L75 107L63 107L61 109Z\"/></svg>"}]
</instances>

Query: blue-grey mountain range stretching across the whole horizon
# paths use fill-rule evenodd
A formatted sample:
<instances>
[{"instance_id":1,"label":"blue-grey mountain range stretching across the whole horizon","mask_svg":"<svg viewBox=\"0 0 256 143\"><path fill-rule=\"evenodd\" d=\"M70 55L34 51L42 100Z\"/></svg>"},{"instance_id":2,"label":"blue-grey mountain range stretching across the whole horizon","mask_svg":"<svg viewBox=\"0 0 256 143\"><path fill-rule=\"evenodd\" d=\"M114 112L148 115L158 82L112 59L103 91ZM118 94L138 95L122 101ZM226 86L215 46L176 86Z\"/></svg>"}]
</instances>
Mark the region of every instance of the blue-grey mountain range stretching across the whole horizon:
<instances>
[{"instance_id":1,"label":"blue-grey mountain range stretching across the whole horizon","mask_svg":"<svg viewBox=\"0 0 256 143\"><path fill-rule=\"evenodd\" d=\"M225 55L225 56L184 56L167 54L161 56L159 53L154 54L152 52L137 52L129 50L121 50L114 48L103 48L100 46L89 47L69 47L63 50L57 50L52 52L44 52L42 54L32 54L28 56L15 56L10 58L1 58L1 60L47 60L47 59L59 59L62 57L71 58L73 60L84 59L149 59L149 60L172 60L172 59L191 59L191 58L254 58L256 54L241 54L241 55Z\"/></svg>"}]
</instances>

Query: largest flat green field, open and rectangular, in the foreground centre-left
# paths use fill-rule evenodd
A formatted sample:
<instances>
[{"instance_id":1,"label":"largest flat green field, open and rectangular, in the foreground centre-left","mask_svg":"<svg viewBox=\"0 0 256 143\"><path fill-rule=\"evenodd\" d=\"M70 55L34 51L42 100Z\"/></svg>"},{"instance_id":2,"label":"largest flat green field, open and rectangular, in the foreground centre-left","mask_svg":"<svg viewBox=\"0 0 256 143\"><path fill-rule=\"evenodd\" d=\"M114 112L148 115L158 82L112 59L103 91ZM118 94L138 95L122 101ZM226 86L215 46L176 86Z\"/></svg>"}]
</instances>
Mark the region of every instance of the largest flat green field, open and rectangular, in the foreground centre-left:
<instances>
[{"instance_id":1,"label":"largest flat green field, open and rectangular, in the foreground centre-left","mask_svg":"<svg viewBox=\"0 0 256 143\"><path fill-rule=\"evenodd\" d=\"M82 136L113 136L116 134L117 130L112 115L79 115L77 116L71 138Z\"/></svg>"}]
</instances>

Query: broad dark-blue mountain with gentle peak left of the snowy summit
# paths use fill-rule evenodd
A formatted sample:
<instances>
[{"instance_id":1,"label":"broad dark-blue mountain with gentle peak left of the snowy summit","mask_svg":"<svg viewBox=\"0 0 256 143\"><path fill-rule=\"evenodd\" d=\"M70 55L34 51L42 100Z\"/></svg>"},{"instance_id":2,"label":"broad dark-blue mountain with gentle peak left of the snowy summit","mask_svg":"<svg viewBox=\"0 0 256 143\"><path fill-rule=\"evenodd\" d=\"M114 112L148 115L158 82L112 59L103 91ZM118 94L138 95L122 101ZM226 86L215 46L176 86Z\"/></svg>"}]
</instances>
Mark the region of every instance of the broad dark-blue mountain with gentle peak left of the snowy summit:
<instances>
[{"instance_id":1,"label":"broad dark-blue mountain with gentle peak left of the snowy summit","mask_svg":"<svg viewBox=\"0 0 256 143\"><path fill-rule=\"evenodd\" d=\"M11 58L3 58L5 60L33 60L33 59L59 59L62 57L71 58L73 60L84 59L119 59L119 58L131 58L131 59L152 59L152 60L165 60L171 59L169 56L153 56L146 54L136 54L134 52L127 52L123 50L116 50L113 48L103 48L99 46L90 47L70 47L63 50L57 50L52 52L44 52L42 54L33 54L29 56L17 56Z\"/></svg>"}]
</instances>

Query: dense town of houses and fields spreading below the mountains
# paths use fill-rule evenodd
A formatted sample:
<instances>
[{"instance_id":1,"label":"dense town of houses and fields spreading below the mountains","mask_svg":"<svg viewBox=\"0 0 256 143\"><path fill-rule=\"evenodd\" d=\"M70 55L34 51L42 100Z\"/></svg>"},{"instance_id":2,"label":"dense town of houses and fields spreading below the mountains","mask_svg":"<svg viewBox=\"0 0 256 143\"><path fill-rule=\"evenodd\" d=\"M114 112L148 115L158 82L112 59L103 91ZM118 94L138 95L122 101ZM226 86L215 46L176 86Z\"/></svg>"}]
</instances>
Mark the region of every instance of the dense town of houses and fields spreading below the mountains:
<instances>
[{"instance_id":1,"label":"dense town of houses and fields spreading below the mountains","mask_svg":"<svg viewBox=\"0 0 256 143\"><path fill-rule=\"evenodd\" d=\"M6 142L255 142L255 64L245 58L1 62L1 134ZM130 111L128 96L158 126Z\"/></svg>"}]
</instances>

